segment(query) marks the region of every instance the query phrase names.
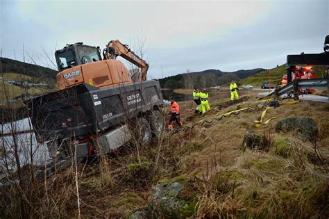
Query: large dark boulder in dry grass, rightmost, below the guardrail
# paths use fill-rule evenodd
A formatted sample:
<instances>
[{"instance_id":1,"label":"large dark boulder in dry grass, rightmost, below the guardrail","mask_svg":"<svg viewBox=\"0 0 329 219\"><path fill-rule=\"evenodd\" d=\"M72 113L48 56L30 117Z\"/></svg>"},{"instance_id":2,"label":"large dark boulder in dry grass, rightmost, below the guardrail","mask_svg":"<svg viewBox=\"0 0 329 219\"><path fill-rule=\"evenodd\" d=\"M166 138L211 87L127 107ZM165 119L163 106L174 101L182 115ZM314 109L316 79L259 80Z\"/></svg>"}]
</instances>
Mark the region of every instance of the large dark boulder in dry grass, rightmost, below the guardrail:
<instances>
[{"instance_id":1,"label":"large dark boulder in dry grass, rightmost, below the guardrail","mask_svg":"<svg viewBox=\"0 0 329 219\"><path fill-rule=\"evenodd\" d=\"M317 124L311 117L298 116L289 117L280 120L276 124L276 132L283 131L285 133L293 132L303 140L315 140L318 136Z\"/></svg>"}]
</instances>

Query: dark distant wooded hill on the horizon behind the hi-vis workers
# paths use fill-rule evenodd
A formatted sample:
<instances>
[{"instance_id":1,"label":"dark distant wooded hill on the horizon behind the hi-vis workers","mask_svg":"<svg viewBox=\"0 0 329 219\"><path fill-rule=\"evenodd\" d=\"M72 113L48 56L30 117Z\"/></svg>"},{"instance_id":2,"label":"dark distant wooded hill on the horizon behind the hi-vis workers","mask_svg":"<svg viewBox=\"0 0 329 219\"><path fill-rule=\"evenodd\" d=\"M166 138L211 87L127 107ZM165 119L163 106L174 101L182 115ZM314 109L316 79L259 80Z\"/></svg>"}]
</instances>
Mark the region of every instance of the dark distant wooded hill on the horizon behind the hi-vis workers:
<instances>
[{"instance_id":1,"label":"dark distant wooded hill on the horizon behind the hi-vis workers","mask_svg":"<svg viewBox=\"0 0 329 219\"><path fill-rule=\"evenodd\" d=\"M193 88L194 86L209 88L212 86L221 86L229 83L231 80L244 79L247 76L251 76L262 71L264 71L264 69L239 70L235 72L205 70L201 72L177 74L174 76L165 77L159 81L161 88L188 89Z\"/></svg>"}]
</instances>

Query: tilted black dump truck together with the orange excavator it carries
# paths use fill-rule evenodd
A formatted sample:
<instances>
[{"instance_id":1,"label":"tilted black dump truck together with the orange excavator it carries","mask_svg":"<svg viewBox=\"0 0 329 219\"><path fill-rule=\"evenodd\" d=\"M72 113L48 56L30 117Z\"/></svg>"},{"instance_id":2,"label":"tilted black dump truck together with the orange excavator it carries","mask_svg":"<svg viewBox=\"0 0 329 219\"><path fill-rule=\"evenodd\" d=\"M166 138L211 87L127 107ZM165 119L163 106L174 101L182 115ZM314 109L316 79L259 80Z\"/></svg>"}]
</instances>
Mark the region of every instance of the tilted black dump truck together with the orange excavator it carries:
<instances>
[{"instance_id":1,"label":"tilted black dump truck together with the orange excavator it carries","mask_svg":"<svg viewBox=\"0 0 329 219\"><path fill-rule=\"evenodd\" d=\"M103 49L78 42L55 52L57 92L28 100L37 141L47 143L57 169L134 139L148 145L162 131L163 100L158 81L146 81L149 65L119 40ZM121 56L140 72L130 75ZM60 168L59 168L59 167ZM55 170L55 163L47 170Z\"/></svg>"}]
</instances>

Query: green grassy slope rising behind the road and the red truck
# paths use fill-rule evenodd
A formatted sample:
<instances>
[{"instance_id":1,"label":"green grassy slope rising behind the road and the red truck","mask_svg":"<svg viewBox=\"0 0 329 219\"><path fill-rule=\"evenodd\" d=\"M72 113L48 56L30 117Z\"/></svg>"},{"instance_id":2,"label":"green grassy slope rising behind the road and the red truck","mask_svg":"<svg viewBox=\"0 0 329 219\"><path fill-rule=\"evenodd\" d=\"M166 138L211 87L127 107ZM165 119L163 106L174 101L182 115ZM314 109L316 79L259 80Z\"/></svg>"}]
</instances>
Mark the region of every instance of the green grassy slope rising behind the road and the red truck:
<instances>
[{"instance_id":1,"label":"green grassy slope rising behind the road and the red truck","mask_svg":"<svg viewBox=\"0 0 329 219\"><path fill-rule=\"evenodd\" d=\"M286 74L285 70L286 65L280 65L279 67L275 67L271 69L271 83L276 86L278 81L282 79L283 74ZM314 74L317 77L321 77L323 72L326 72L326 68L323 66L314 66L313 67ZM263 81L269 81L269 71L260 72L258 74L254 74L253 76L248 76L246 79L239 80L241 84L250 84L251 86L261 86Z\"/></svg>"}]
</instances>

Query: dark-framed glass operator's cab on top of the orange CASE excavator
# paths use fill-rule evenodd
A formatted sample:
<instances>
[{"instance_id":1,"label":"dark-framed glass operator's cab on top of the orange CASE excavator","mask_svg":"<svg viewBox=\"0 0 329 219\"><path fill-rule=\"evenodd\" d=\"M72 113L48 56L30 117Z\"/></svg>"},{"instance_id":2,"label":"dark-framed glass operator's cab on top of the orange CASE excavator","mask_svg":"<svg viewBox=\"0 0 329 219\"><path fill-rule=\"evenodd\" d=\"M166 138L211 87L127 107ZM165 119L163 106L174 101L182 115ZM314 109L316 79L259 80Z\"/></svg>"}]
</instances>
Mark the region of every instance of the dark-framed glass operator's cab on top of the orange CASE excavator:
<instances>
[{"instance_id":1,"label":"dark-framed glass operator's cab on top of the orange CASE excavator","mask_svg":"<svg viewBox=\"0 0 329 219\"><path fill-rule=\"evenodd\" d=\"M67 44L63 49L56 50L55 57L60 72L77 65L102 60L99 48L84 45L83 42Z\"/></svg>"}]
</instances>

